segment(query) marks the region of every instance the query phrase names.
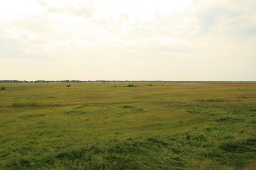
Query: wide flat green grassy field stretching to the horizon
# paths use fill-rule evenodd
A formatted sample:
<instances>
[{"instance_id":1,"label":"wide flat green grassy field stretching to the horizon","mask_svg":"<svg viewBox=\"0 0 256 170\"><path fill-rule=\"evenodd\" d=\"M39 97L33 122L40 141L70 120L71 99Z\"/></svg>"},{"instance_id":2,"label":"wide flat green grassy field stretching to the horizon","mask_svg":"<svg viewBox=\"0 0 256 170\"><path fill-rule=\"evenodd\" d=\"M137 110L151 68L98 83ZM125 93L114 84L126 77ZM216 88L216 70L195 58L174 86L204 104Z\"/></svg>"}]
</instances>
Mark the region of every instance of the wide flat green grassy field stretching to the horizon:
<instances>
[{"instance_id":1,"label":"wide flat green grassy field stretching to the horizon","mask_svg":"<svg viewBox=\"0 0 256 170\"><path fill-rule=\"evenodd\" d=\"M255 83L67 84L0 84L0 169L256 167Z\"/></svg>"}]
</instances>

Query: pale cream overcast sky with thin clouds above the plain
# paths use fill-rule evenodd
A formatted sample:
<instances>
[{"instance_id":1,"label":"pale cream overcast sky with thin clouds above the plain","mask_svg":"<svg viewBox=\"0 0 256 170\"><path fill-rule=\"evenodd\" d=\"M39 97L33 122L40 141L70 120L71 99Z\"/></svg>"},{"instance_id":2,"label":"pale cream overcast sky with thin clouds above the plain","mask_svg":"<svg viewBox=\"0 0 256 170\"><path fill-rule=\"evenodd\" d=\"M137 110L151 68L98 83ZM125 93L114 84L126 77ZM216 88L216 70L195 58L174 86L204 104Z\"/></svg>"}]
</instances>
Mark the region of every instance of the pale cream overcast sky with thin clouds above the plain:
<instances>
[{"instance_id":1,"label":"pale cream overcast sky with thin clouds above the plain","mask_svg":"<svg viewBox=\"0 0 256 170\"><path fill-rule=\"evenodd\" d=\"M0 0L0 80L256 81L255 0Z\"/></svg>"}]
</instances>

